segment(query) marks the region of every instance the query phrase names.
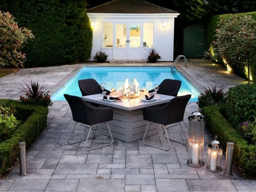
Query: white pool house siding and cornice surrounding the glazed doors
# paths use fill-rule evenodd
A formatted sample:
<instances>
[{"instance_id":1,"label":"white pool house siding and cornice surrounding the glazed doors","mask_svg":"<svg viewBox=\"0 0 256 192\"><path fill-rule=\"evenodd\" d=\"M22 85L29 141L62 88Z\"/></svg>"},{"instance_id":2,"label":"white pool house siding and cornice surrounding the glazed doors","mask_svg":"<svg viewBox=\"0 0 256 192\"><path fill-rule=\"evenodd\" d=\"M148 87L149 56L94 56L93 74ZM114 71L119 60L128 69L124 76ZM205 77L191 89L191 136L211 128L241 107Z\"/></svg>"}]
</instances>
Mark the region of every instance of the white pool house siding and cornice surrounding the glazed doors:
<instances>
[{"instance_id":1,"label":"white pool house siding and cornice surrounding the glazed doors","mask_svg":"<svg viewBox=\"0 0 256 192\"><path fill-rule=\"evenodd\" d=\"M94 60L97 50L102 48L102 22L154 22L154 48L161 56L160 61L173 61L174 47L174 18L178 14L91 14L88 16L94 22L92 38L92 54L90 60ZM163 27L162 23L167 26ZM142 40L143 41L143 40ZM108 56L108 60L113 59L113 48L102 48ZM150 48L142 48L142 59L148 58ZM132 58L131 58L132 59Z\"/></svg>"}]
</instances>

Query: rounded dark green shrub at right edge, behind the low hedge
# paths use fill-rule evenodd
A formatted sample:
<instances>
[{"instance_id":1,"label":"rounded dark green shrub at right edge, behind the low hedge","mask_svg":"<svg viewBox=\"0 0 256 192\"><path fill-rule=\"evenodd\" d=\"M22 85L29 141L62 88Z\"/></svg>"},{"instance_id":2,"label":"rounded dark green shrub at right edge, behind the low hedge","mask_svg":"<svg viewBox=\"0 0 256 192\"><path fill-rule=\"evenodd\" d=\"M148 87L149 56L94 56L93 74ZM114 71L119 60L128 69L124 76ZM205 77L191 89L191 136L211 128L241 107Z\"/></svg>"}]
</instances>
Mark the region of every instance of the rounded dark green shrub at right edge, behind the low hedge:
<instances>
[{"instance_id":1,"label":"rounded dark green shrub at right edge, behind the low hedge","mask_svg":"<svg viewBox=\"0 0 256 192\"><path fill-rule=\"evenodd\" d=\"M225 116L232 126L253 122L256 117L256 84L232 87L228 91Z\"/></svg>"}]
</instances>

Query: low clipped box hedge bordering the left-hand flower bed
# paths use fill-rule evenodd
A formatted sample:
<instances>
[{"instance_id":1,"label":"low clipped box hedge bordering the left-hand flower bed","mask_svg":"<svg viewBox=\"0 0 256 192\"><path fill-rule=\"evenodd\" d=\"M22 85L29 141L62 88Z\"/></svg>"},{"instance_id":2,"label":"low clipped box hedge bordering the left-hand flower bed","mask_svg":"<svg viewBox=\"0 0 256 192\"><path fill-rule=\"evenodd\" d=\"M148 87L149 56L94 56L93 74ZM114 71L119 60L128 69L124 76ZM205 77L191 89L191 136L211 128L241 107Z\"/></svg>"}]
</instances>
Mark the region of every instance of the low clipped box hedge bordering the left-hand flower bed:
<instances>
[{"instance_id":1,"label":"low clipped box hedge bordering the left-hand flower bed","mask_svg":"<svg viewBox=\"0 0 256 192\"><path fill-rule=\"evenodd\" d=\"M15 108L14 115L23 121L12 138L0 143L0 174L6 174L19 156L18 142L26 141L26 146L30 147L46 127L48 108L21 104L15 100L0 99L0 104Z\"/></svg>"}]
</instances>

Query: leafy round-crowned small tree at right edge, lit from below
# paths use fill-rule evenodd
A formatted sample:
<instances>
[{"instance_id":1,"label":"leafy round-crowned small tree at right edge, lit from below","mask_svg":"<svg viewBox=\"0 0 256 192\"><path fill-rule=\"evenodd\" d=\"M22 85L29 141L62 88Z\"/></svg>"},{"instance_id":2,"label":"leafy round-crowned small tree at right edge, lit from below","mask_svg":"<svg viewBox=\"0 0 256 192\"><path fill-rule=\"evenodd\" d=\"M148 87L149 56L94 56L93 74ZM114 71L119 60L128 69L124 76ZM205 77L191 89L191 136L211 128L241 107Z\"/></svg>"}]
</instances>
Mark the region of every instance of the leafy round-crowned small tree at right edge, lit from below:
<instances>
[{"instance_id":1,"label":"leafy round-crowned small tree at right edge, lit from below","mask_svg":"<svg viewBox=\"0 0 256 192\"><path fill-rule=\"evenodd\" d=\"M216 52L236 73L247 67L250 82L250 65L256 54L256 20L251 15L220 17L216 29Z\"/></svg>"}]
</instances>

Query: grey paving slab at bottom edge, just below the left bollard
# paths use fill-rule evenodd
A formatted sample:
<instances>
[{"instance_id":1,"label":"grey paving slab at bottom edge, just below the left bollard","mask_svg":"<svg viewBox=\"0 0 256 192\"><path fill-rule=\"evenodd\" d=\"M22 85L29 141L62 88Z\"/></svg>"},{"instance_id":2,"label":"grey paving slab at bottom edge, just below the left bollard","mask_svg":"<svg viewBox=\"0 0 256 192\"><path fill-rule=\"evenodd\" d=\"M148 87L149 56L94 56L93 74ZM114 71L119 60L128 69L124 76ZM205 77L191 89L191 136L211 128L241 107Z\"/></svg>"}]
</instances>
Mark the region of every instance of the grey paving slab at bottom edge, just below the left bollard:
<instances>
[{"instance_id":1,"label":"grey paving slab at bottom edge, just below the left bollard","mask_svg":"<svg viewBox=\"0 0 256 192\"><path fill-rule=\"evenodd\" d=\"M44 191L49 179L18 179L9 191Z\"/></svg>"}]
</instances>

